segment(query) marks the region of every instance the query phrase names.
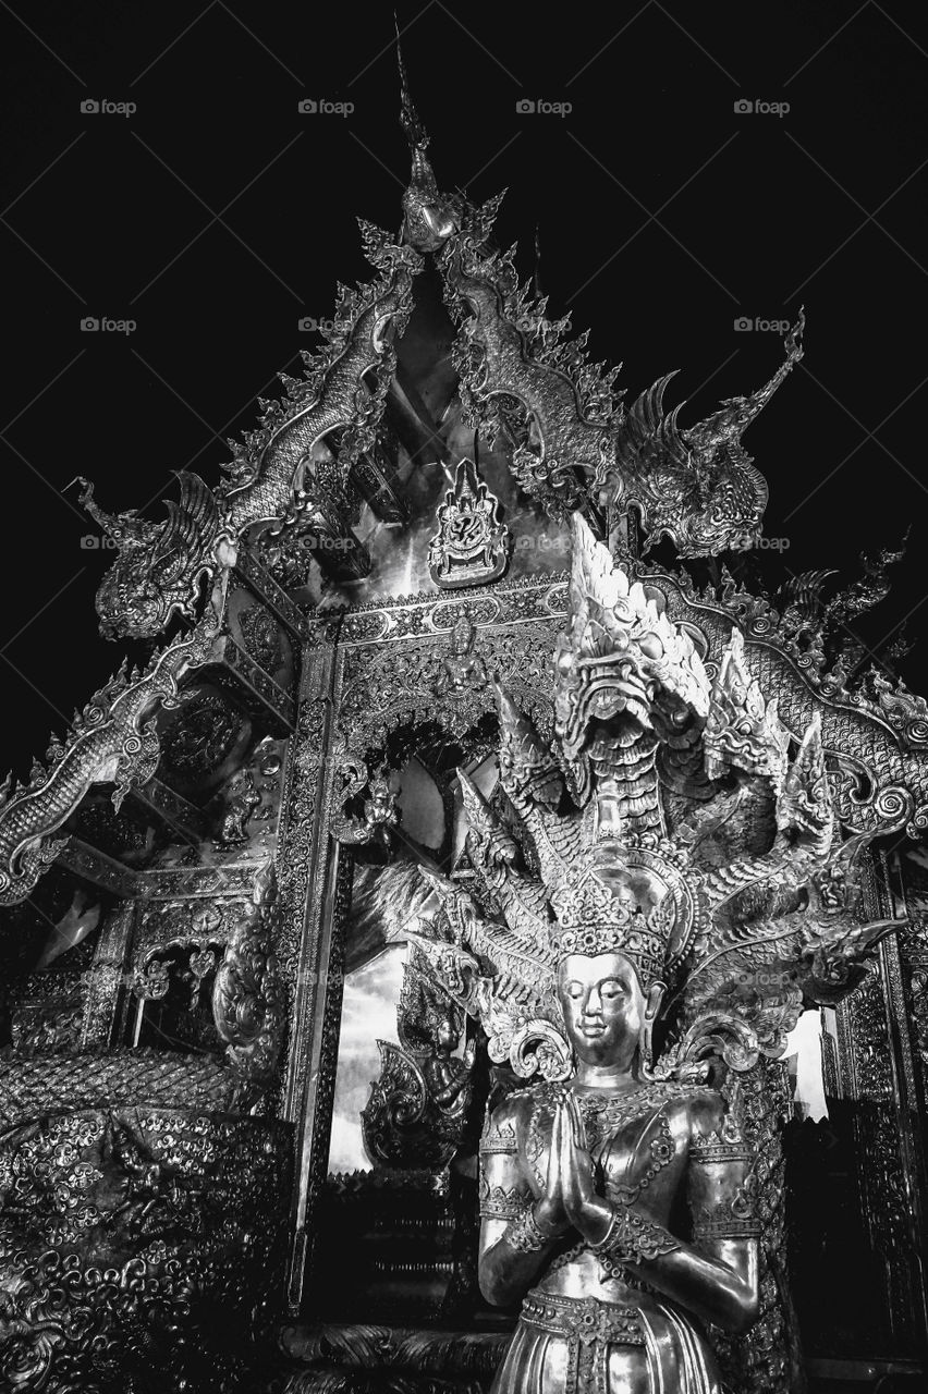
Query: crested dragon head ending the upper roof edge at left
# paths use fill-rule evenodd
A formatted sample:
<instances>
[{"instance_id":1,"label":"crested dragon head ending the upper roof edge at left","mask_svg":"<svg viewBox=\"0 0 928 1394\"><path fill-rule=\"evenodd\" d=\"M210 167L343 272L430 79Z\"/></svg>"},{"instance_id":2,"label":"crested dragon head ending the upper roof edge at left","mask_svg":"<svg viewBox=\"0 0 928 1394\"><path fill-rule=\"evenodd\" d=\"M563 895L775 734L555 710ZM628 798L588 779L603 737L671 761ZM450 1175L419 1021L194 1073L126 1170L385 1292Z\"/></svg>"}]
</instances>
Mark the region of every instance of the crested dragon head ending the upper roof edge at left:
<instances>
[{"instance_id":1,"label":"crested dragon head ending the upper roof edge at left","mask_svg":"<svg viewBox=\"0 0 928 1394\"><path fill-rule=\"evenodd\" d=\"M199 475L183 471L177 478L180 500L167 503L164 523L149 523L135 509L105 513L93 500L93 485L78 480L81 505L118 548L96 592L105 638L153 638L176 612L195 618L199 583L216 569L220 517Z\"/></svg>"}]
</instances>

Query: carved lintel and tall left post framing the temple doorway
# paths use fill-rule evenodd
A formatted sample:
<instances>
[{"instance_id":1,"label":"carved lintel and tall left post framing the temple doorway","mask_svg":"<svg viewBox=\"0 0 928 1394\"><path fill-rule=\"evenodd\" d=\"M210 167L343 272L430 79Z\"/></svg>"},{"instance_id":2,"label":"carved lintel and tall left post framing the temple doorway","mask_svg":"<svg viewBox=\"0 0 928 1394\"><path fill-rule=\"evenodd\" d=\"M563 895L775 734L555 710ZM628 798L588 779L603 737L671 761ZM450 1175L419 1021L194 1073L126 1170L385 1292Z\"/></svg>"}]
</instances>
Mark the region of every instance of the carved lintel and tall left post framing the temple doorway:
<instances>
[{"instance_id":1,"label":"carved lintel and tall left post framing the temple doorway","mask_svg":"<svg viewBox=\"0 0 928 1394\"><path fill-rule=\"evenodd\" d=\"M316 616L288 750L277 867L279 960L291 1002L280 1112L295 1128L291 1315L301 1309L312 1264L314 1207L326 1177L339 1058L353 856L332 835L333 818L346 793L364 788L365 754L379 750L392 730L428 719L464 733L484 714L495 714L490 679L497 673L549 725L546 668L566 590L563 576L546 574L453 598L421 595ZM474 650L485 676L472 689L436 697L429 682L450 651L461 608L475 626ZM373 673L358 677L355 669L365 665ZM389 683L390 700L378 704L373 693L362 700L359 689L379 677Z\"/></svg>"}]
</instances>

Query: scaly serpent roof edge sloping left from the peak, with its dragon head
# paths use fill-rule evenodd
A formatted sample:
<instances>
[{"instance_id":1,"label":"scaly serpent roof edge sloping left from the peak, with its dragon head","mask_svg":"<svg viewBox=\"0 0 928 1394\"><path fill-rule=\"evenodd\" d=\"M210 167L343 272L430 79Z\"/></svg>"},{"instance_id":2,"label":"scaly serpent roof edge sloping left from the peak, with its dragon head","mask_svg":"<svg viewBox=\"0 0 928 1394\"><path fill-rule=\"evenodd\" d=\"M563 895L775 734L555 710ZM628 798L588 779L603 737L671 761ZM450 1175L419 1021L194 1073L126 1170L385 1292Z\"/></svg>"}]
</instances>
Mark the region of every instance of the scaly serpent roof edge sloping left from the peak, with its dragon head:
<instances>
[{"instance_id":1,"label":"scaly serpent roof edge sloping left from the peak, with its dragon head","mask_svg":"<svg viewBox=\"0 0 928 1394\"><path fill-rule=\"evenodd\" d=\"M233 567L240 548L268 528L302 520L315 537L341 544L323 556L359 546L346 530L346 488L354 463L373 446L394 367L393 333L408 319L422 265L411 245L392 243L369 223L361 231L379 277L357 291L343 287L327 343L304 354L304 378L281 375L286 395L261 403L261 427L244 442L230 442L234 459L219 489L180 473L180 499L167 505L167 521L156 524L134 509L105 513L81 480L81 502L118 548L96 597L107 638L150 638L176 613L192 619L201 583ZM325 470L314 449L339 429L336 468Z\"/></svg>"}]
</instances>

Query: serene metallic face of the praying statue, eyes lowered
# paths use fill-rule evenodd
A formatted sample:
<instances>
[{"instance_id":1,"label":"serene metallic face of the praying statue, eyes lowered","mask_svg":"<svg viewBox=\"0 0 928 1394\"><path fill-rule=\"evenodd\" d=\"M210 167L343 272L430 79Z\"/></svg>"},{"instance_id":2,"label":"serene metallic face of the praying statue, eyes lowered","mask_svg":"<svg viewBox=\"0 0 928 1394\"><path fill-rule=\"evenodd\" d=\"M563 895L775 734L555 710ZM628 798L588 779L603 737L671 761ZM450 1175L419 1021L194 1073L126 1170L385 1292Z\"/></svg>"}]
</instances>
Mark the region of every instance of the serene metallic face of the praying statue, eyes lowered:
<instances>
[{"instance_id":1,"label":"serene metallic face of the praying statue, eyes lowered","mask_svg":"<svg viewBox=\"0 0 928 1394\"><path fill-rule=\"evenodd\" d=\"M557 970L567 1036L588 1065L630 1068L645 1018L634 966L621 953L570 953Z\"/></svg>"}]
</instances>

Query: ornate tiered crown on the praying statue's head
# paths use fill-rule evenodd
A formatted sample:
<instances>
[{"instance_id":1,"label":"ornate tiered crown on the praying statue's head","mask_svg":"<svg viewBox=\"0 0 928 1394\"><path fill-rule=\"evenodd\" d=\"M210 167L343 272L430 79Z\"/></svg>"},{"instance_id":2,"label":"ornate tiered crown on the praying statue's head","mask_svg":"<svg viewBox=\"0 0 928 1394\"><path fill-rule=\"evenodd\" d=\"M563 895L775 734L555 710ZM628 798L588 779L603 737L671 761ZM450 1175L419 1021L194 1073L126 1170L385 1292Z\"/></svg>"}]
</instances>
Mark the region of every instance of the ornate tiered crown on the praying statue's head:
<instances>
[{"instance_id":1,"label":"ornate tiered crown on the praying statue's head","mask_svg":"<svg viewBox=\"0 0 928 1394\"><path fill-rule=\"evenodd\" d=\"M648 881L620 861L598 866L587 856L571 868L550 898L550 941L557 962L569 953L623 953L634 963L642 987L660 979L677 906L666 887L656 901L642 895L647 888Z\"/></svg>"}]
</instances>

